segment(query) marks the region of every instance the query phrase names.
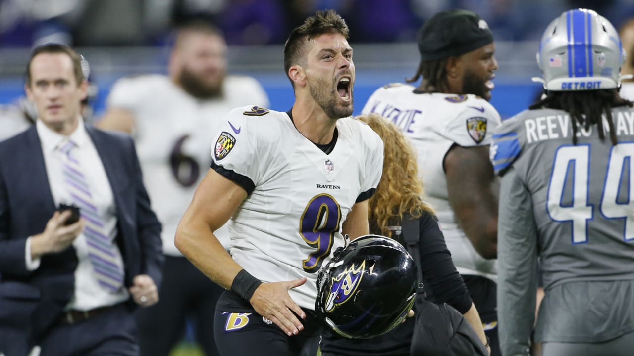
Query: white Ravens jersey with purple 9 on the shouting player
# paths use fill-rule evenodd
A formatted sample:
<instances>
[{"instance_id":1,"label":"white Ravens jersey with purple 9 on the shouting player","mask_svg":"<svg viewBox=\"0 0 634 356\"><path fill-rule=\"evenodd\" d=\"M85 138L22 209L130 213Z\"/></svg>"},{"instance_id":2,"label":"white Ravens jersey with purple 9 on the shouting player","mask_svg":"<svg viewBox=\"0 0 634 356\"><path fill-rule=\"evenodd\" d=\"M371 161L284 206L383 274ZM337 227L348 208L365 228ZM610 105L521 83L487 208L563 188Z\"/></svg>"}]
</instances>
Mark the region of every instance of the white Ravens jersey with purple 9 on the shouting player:
<instances>
[{"instance_id":1,"label":"white Ravens jersey with purple 9 on the shouting player","mask_svg":"<svg viewBox=\"0 0 634 356\"><path fill-rule=\"evenodd\" d=\"M287 113L244 106L214 136L213 168L249 194L229 225L233 259L264 282L308 281L289 291L314 309L316 277L333 251L354 203L374 193L383 141L355 118L337 121L329 154L295 129Z\"/></svg>"}]
</instances>

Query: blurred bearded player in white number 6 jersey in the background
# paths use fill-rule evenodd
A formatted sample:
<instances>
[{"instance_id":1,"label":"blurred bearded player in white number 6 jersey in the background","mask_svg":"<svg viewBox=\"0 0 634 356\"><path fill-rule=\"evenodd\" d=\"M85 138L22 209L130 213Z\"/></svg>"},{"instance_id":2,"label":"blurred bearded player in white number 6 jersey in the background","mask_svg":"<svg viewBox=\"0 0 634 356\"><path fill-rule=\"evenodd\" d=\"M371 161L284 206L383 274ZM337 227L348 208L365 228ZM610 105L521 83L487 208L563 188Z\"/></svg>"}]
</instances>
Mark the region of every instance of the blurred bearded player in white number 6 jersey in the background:
<instances>
[{"instance_id":1,"label":"blurred bearded player in white number 6 jersey in the background","mask_svg":"<svg viewBox=\"0 0 634 356\"><path fill-rule=\"evenodd\" d=\"M216 302L223 289L174 246L176 226L211 162L212 132L236 106L268 105L251 77L226 75L223 35L204 22L175 32L169 75L118 80L100 127L133 134L153 207L164 224L165 284L160 302L138 313L141 354L167 356L193 317L195 337L207 356L218 355L213 335ZM226 228L217 236L228 248Z\"/></svg>"}]
</instances>

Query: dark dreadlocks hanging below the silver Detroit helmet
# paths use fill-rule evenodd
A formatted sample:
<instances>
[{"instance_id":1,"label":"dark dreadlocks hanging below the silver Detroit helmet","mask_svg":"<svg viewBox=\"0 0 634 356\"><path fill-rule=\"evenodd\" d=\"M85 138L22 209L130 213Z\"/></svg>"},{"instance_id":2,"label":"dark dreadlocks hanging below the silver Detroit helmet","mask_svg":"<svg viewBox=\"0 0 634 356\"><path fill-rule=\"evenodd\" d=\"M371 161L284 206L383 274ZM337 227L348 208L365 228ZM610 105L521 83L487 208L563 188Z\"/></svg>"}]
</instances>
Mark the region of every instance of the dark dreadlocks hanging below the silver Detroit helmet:
<instances>
[{"instance_id":1,"label":"dark dreadlocks hanging below the silver Detroit helmet","mask_svg":"<svg viewBox=\"0 0 634 356\"><path fill-rule=\"evenodd\" d=\"M612 120L612 108L617 106L630 106L632 102L619 96L617 89L593 90L593 91L550 91L547 96L533 105L529 110L550 108L566 111L573 123L573 144L577 144L577 124L583 125L588 131L590 125L597 125L598 137L605 139L605 128L602 114L605 112L610 141L616 145L616 132L614 132L614 120ZM580 109L580 110L579 110Z\"/></svg>"}]
</instances>

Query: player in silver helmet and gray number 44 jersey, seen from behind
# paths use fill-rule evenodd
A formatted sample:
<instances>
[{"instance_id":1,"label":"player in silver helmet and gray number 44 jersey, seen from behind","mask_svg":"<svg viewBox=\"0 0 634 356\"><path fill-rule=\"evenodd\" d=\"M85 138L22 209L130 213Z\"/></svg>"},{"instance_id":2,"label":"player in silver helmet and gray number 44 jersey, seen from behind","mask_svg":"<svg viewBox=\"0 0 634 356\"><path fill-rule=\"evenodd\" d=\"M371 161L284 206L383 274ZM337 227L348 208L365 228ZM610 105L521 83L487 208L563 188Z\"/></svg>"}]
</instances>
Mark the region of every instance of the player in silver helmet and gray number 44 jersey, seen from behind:
<instances>
[{"instance_id":1,"label":"player in silver helmet and gray number 44 jersey, seen from behind","mask_svg":"<svg viewBox=\"0 0 634 356\"><path fill-rule=\"evenodd\" d=\"M545 30L538 64L547 96L491 145L501 350L528 353L540 258L543 355L631 355L634 109L618 95L621 41L595 11L566 11Z\"/></svg>"}]
</instances>

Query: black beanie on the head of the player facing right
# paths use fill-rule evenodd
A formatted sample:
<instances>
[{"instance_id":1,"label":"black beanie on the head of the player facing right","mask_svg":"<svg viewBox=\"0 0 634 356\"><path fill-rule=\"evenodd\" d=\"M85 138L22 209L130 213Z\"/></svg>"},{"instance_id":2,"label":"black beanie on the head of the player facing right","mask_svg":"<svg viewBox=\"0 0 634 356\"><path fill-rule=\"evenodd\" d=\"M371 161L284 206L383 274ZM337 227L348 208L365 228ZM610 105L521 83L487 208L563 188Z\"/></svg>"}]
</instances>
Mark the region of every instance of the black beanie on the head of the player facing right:
<instances>
[{"instance_id":1,"label":"black beanie on the head of the player facing right","mask_svg":"<svg viewBox=\"0 0 634 356\"><path fill-rule=\"evenodd\" d=\"M422 61L460 56L493 42L486 21L469 10L441 11L418 30L418 51Z\"/></svg>"}]
</instances>

